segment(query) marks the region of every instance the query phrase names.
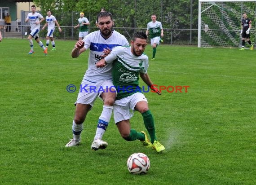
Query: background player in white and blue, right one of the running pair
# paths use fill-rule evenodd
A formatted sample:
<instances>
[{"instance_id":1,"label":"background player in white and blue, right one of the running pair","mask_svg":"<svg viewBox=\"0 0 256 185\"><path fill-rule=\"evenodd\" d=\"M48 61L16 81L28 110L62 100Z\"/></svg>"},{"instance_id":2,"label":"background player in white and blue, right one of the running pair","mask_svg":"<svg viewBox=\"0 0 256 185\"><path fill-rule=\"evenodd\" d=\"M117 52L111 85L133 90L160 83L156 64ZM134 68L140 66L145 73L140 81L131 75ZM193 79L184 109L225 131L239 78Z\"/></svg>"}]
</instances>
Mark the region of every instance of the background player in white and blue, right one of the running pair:
<instances>
[{"instance_id":1,"label":"background player in white and blue, right one of the running pair","mask_svg":"<svg viewBox=\"0 0 256 185\"><path fill-rule=\"evenodd\" d=\"M46 35L46 46L45 47L48 48L50 40L51 40L51 43L52 43L52 46L53 46L53 49L51 51L55 51L56 48L55 48L55 42L54 42L54 39L53 39L53 32L55 30L55 24L57 25L58 30L59 30L60 33L62 32L62 29L61 29L59 23L57 22L56 18L52 15L51 10L47 11L47 16L46 16L45 19L46 19L46 23L42 28L42 30L44 30L44 28L46 26L48 26L47 35Z\"/></svg>"}]
</instances>

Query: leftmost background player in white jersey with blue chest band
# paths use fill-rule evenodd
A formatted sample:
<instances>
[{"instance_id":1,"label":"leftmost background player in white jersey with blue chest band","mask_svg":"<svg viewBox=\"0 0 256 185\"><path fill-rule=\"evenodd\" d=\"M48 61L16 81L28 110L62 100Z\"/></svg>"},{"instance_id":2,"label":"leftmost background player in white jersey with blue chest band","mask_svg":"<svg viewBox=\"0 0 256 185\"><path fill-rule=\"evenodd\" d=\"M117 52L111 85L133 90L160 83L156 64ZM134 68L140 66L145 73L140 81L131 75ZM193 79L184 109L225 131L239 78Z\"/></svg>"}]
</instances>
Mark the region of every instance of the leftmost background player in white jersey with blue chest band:
<instances>
[{"instance_id":1,"label":"leftmost background player in white jersey with blue chest band","mask_svg":"<svg viewBox=\"0 0 256 185\"><path fill-rule=\"evenodd\" d=\"M34 53L34 45L32 38L40 45L41 48L44 49L44 55L47 55L47 48L44 47L44 44L39 39L39 31L40 31L40 23L44 21L44 17L35 12L35 5L31 6L32 13L28 13L25 22L30 23L31 33L28 35L27 39L30 43L30 51L27 54Z\"/></svg>"}]
</instances>

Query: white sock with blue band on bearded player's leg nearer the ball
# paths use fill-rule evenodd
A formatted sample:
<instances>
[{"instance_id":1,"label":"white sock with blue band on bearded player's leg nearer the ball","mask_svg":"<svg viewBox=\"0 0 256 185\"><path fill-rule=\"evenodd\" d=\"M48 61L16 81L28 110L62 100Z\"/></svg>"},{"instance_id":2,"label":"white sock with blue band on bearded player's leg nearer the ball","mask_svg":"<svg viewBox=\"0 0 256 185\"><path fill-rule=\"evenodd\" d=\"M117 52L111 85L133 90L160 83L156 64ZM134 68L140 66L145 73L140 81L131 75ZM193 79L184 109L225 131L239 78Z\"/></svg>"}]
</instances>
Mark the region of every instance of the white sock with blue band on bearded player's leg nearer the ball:
<instances>
[{"instance_id":1,"label":"white sock with blue band on bearded player's leg nearer the ball","mask_svg":"<svg viewBox=\"0 0 256 185\"><path fill-rule=\"evenodd\" d=\"M110 122L112 111L113 106L103 106L102 114L99 117L94 140L102 139L103 134L106 132L108 123Z\"/></svg>"}]
</instances>

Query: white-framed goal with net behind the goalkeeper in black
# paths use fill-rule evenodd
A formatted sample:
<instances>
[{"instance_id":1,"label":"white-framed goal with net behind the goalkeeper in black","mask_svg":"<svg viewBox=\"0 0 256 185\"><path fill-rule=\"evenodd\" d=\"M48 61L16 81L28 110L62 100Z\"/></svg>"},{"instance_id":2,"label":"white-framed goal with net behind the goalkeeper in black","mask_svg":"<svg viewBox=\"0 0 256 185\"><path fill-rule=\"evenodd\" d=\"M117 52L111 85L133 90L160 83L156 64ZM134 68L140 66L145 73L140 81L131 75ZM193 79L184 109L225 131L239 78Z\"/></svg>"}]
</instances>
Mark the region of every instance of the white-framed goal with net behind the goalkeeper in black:
<instances>
[{"instance_id":1,"label":"white-framed goal with net behind the goalkeeper in black","mask_svg":"<svg viewBox=\"0 0 256 185\"><path fill-rule=\"evenodd\" d=\"M199 0L198 47L240 47L243 13L252 20L255 45L256 0Z\"/></svg>"}]
</instances>

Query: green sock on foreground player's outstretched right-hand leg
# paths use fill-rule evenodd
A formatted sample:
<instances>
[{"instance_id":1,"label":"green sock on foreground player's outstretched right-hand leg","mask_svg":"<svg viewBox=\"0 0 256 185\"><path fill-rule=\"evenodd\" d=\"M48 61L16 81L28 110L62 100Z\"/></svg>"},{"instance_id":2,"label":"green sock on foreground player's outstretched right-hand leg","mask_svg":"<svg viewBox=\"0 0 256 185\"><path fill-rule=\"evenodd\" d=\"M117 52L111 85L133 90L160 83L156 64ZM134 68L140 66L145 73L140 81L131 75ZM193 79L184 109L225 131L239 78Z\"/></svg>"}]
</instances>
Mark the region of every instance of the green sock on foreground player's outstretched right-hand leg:
<instances>
[{"instance_id":1,"label":"green sock on foreground player's outstretched right-hand leg","mask_svg":"<svg viewBox=\"0 0 256 185\"><path fill-rule=\"evenodd\" d=\"M154 129L154 118L151 114L150 110L141 114L144 120L144 125L149 132L151 143L154 143L154 140L157 140L155 136L155 129Z\"/></svg>"}]
</instances>

